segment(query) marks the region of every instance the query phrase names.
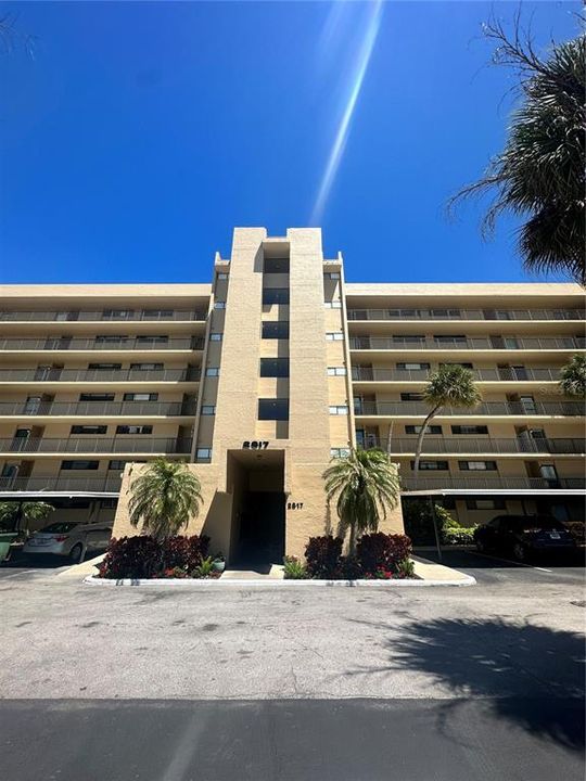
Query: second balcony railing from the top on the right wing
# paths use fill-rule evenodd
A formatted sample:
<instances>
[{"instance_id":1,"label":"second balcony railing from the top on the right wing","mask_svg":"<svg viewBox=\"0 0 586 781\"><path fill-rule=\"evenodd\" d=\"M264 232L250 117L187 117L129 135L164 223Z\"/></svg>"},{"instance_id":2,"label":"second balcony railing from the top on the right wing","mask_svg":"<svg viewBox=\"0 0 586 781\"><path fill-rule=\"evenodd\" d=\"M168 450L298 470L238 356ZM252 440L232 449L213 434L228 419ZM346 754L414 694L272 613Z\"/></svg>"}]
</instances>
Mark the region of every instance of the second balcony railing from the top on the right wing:
<instances>
[{"instance_id":1,"label":"second balcony railing from the top on the right wing","mask_svg":"<svg viewBox=\"0 0 586 781\"><path fill-rule=\"evenodd\" d=\"M377 350L544 350L544 349L583 349L586 340L577 336L560 336L528 338L426 338L403 340L393 336L352 336L349 340L351 349L377 349Z\"/></svg>"}]
</instances>

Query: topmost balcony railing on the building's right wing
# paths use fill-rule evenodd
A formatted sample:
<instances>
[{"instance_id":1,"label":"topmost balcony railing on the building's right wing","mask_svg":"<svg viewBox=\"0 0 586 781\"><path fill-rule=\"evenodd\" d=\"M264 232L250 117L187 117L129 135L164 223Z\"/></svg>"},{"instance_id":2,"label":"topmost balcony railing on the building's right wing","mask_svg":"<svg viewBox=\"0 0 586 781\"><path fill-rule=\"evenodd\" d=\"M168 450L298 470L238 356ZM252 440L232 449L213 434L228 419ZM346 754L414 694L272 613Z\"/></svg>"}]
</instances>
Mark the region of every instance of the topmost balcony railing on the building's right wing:
<instances>
[{"instance_id":1,"label":"topmost balcony railing on the building's right wing","mask_svg":"<svg viewBox=\"0 0 586 781\"><path fill-rule=\"evenodd\" d=\"M348 320L584 320L582 309L348 309Z\"/></svg>"}]
</instances>

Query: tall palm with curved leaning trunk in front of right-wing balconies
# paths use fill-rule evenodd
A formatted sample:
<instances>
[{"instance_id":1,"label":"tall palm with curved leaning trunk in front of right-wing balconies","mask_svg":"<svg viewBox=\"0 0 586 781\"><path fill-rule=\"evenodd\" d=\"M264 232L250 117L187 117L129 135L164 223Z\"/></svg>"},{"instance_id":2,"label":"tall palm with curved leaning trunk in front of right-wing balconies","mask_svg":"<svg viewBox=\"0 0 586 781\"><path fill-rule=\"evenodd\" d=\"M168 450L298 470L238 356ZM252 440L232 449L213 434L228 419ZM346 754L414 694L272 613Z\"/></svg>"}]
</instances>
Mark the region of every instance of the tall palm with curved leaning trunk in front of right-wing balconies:
<instances>
[{"instance_id":1,"label":"tall palm with curved leaning trunk in front of right-wing balconies","mask_svg":"<svg viewBox=\"0 0 586 781\"><path fill-rule=\"evenodd\" d=\"M435 415L446 406L456 409L474 409L482 401L482 396L474 384L474 375L470 369L455 363L440 367L437 371L429 375L428 384L423 389L423 400L431 407L431 410L423 421L417 438L413 464L416 478L419 472L423 437Z\"/></svg>"}]
</instances>

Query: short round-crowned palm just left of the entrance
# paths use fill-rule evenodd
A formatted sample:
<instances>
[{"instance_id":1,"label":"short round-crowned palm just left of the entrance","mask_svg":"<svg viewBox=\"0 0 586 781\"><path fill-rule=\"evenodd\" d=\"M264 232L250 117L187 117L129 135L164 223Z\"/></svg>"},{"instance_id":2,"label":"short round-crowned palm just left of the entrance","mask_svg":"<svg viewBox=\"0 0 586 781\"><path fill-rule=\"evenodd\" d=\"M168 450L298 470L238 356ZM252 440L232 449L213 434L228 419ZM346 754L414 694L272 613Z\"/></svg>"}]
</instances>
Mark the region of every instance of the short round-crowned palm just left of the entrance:
<instances>
[{"instance_id":1,"label":"short round-crowned palm just left of the entrance","mask_svg":"<svg viewBox=\"0 0 586 781\"><path fill-rule=\"evenodd\" d=\"M156 459L131 483L130 523L163 540L196 517L203 501L199 478L180 461Z\"/></svg>"}]
</instances>

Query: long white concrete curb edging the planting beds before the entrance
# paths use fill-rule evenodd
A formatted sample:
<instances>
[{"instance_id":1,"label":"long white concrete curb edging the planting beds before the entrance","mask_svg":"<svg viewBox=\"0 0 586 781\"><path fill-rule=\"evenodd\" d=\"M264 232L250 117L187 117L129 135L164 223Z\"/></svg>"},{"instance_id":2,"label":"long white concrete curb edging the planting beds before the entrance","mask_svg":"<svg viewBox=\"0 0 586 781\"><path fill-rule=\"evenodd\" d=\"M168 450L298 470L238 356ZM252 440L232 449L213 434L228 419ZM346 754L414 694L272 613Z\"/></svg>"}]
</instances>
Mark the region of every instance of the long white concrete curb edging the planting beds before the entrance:
<instances>
[{"instance_id":1,"label":"long white concrete curb edging the planting beds before the entrance","mask_svg":"<svg viewBox=\"0 0 586 781\"><path fill-rule=\"evenodd\" d=\"M277 580L277 579L257 579L257 580L222 580L218 579L192 579L192 578L152 578L151 580L131 580L124 578L120 580L98 578L90 575L84 578L87 586L144 586L148 588L180 588L199 590L201 588L429 588L433 586L475 586L476 579L471 575L464 575L461 578L453 580Z\"/></svg>"}]
</instances>

